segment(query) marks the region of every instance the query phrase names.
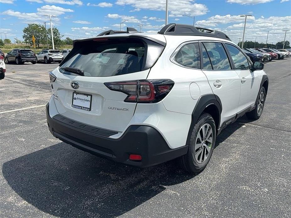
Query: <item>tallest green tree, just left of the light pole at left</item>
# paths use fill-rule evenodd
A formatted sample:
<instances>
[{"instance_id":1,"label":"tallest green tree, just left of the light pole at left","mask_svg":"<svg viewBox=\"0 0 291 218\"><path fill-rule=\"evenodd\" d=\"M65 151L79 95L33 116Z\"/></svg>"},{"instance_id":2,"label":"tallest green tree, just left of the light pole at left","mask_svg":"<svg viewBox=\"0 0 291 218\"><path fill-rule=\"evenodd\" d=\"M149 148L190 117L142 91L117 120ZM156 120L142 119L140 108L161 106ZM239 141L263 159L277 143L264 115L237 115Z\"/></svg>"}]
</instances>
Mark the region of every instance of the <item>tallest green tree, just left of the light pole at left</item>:
<instances>
[{"instance_id":1,"label":"tallest green tree, just left of the light pole at left","mask_svg":"<svg viewBox=\"0 0 291 218\"><path fill-rule=\"evenodd\" d=\"M24 42L30 45L33 45L32 35L35 37L35 44L40 47L40 44L46 42L46 29L44 25L40 24L28 24L27 27L23 29Z\"/></svg>"}]
</instances>

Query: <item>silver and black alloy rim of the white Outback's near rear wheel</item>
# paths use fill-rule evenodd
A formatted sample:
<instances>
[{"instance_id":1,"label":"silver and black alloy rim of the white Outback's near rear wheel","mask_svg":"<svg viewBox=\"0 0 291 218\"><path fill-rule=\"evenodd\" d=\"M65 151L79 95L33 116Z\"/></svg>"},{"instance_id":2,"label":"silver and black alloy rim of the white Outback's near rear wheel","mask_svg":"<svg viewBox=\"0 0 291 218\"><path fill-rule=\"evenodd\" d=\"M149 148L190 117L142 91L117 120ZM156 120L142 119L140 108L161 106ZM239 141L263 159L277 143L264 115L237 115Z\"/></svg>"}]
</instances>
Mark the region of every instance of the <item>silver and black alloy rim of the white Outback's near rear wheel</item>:
<instances>
[{"instance_id":1,"label":"silver and black alloy rim of the white Outback's near rear wheel","mask_svg":"<svg viewBox=\"0 0 291 218\"><path fill-rule=\"evenodd\" d=\"M194 152L192 151L192 154L194 154L194 158L198 163L203 163L207 159L212 147L212 137L212 127L210 124L205 123L198 131Z\"/></svg>"}]
</instances>

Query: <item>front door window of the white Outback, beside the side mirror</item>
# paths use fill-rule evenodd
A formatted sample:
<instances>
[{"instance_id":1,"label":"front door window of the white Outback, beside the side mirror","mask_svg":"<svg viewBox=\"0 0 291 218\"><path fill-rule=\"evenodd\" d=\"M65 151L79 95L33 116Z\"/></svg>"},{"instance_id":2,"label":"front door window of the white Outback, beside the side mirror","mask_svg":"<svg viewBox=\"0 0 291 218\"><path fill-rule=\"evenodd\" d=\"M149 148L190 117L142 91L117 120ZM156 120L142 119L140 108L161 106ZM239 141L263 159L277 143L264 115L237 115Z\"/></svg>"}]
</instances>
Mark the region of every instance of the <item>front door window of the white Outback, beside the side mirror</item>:
<instances>
[{"instance_id":1,"label":"front door window of the white Outback, beside the side mirror","mask_svg":"<svg viewBox=\"0 0 291 218\"><path fill-rule=\"evenodd\" d=\"M225 46L230 53L236 70L250 69L247 58L237 47L229 44L226 44Z\"/></svg>"}]
</instances>

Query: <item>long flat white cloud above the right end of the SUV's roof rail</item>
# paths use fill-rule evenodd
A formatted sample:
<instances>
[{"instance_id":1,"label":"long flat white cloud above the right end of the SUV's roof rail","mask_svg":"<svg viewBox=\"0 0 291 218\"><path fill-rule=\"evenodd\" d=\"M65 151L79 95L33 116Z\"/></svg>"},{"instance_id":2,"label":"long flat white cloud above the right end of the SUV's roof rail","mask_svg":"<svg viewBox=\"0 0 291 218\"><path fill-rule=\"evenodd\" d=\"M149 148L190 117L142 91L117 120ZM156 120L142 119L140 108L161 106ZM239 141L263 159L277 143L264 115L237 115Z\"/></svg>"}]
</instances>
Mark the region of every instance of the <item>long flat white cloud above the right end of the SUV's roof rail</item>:
<instances>
[{"instance_id":1,"label":"long flat white cloud above the right end of the SUV's roof rail","mask_svg":"<svg viewBox=\"0 0 291 218\"><path fill-rule=\"evenodd\" d=\"M248 17L247 20L254 20L255 17ZM218 24L227 24L231 22L242 22L244 21L244 17L240 17L240 15L215 15L209 17L207 20L199 20L195 24L202 27L209 26L217 26Z\"/></svg>"}]
</instances>

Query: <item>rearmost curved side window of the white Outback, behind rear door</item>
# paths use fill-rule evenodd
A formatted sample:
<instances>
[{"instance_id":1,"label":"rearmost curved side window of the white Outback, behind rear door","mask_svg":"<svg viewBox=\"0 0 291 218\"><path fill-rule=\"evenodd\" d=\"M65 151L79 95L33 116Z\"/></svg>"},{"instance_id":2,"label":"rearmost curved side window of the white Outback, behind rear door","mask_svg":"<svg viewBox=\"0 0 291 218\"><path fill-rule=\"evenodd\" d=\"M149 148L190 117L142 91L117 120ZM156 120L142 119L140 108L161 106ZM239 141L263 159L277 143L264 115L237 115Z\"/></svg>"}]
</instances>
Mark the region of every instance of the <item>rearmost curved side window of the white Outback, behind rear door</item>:
<instances>
[{"instance_id":1,"label":"rearmost curved side window of the white Outback, behind rear door","mask_svg":"<svg viewBox=\"0 0 291 218\"><path fill-rule=\"evenodd\" d=\"M200 52L198 42L181 47L175 56L175 61L188 68L200 69Z\"/></svg>"}]
</instances>

